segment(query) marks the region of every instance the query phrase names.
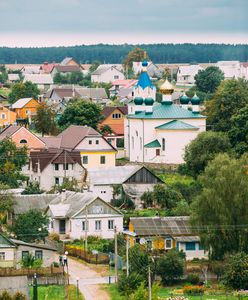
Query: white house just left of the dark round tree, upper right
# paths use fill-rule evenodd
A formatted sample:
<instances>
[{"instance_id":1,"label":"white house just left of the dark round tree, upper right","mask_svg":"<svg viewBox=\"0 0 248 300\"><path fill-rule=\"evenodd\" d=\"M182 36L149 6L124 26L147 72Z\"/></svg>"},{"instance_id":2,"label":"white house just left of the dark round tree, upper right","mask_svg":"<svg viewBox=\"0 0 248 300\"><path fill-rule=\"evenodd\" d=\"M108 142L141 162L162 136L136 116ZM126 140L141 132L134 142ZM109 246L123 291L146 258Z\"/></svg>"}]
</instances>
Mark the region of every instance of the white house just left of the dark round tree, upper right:
<instances>
[{"instance_id":1,"label":"white house just left of the dark round tree, upper right","mask_svg":"<svg viewBox=\"0 0 248 300\"><path fill-rule=\"evenodd\" d=\"M193 85L195 83L195 75L203 70L200 65L179 66L177 71L178 85Z\"/></svg>"}]
</instances>

